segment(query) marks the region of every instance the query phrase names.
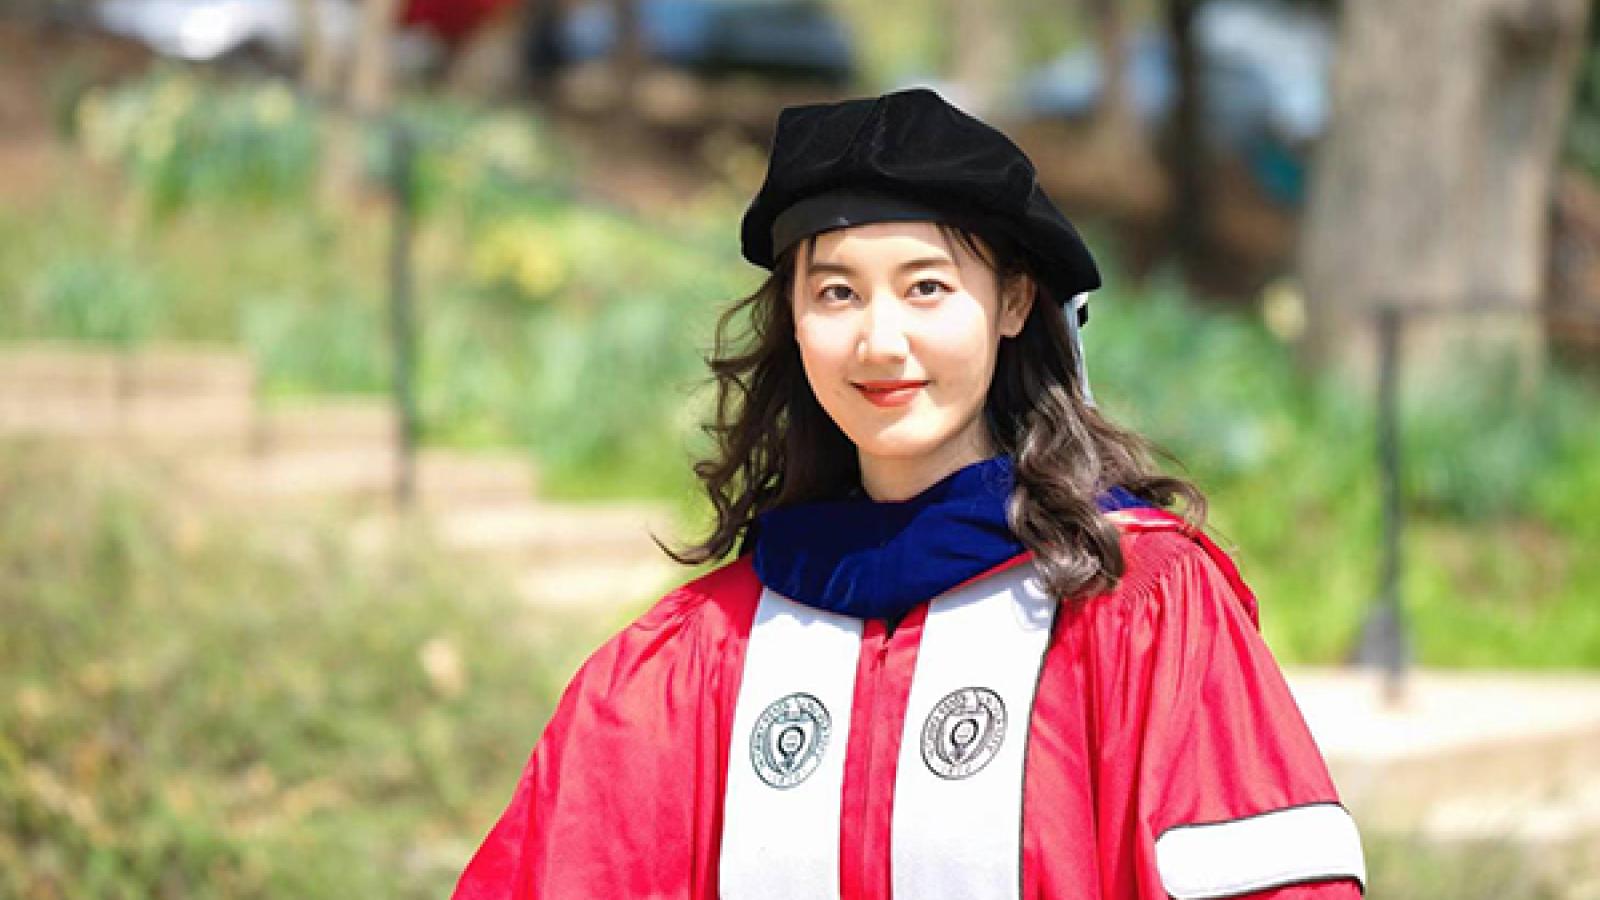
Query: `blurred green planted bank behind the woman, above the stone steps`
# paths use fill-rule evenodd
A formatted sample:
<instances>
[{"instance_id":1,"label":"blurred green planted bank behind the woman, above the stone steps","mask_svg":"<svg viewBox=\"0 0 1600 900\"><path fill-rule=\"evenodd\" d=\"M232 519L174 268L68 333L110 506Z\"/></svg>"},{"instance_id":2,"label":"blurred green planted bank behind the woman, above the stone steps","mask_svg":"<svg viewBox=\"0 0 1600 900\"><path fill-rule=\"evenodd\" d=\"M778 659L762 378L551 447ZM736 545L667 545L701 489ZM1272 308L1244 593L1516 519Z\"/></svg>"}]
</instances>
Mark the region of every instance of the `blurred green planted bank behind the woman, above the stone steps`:
<instances>
[{"instance_id":1,"label":"blurred green planted bank behind the woman, above the stone steps","mask_svg":"<svg viewBox=\"0 0 1600 900\"><path fill-rule=\"evenodd\" d=\"M173 88L174 78L194 83ZM206 122L214 104L261 109L251 91L280 96L272 85L213 86L182 72L98 101L86 94L80 131L125 141L102 138L99 176L64 186L50 208L0 208L0 290L22 298L0 306L0 338L237 341L261 360L269 397L382 391L381 202L320 211L253 181L302 176L214 160L227 178L174 192L162 179L181 160L235 144L198 125L176 128L171 141L139 138L139 128L98 125L93 112L179 98L187 112L160 115ZM296 107L283 119L277 102L266 104L269 120L312 115ZM712 184L701 202L646 221L563 199L573 160L536 119L438 101L405 115L424 133L416 277L426 440L526 447L554 495L653 496L698 517L688 463L709 402L699 356L717 309L760 274L739 259L731 232L742 187ZM277 135L262 125L254 139ZM179 163L152 163L141 141ZM379 154L374 176L381 163ZM230 179L243 184L235 191ZM1174 452L1211 496L1280 657L1339 661L1376 586L1370 397L1298 372L1259 315L1200 311L1171 283L1122 287L1107 269L1112 287L1086 331L1098 396ZM1478 362L1408 388L1405 594L1418 657L1600 666L1600 609L1589 602L1600 594L1590 512L1600 504L1600 396L1554 368L1531 397L1514 386Z\"/></svg>"}]
</instances>

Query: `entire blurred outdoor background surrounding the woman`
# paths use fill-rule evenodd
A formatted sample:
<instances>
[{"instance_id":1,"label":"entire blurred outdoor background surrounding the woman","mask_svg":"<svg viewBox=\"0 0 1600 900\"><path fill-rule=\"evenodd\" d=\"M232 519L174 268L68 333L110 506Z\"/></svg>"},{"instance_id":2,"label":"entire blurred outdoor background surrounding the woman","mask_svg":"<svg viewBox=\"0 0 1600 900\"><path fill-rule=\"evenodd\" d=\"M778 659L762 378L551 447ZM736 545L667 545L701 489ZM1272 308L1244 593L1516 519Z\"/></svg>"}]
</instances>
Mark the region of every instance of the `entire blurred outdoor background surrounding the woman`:
<instances>
[{"instance_id":1,"label":"entire blurred outdoor background surrounding the woman","mask_svg":"<svg viewBox=\"0 0 1600 900\"><path fill-rule=\"evenodd\" d=\"M1600 897L1586 0L0 0L0 895L442 897L693 572L778 110L928 85L1102 261L1370 897Z\"/></svg>"}]
</instances>

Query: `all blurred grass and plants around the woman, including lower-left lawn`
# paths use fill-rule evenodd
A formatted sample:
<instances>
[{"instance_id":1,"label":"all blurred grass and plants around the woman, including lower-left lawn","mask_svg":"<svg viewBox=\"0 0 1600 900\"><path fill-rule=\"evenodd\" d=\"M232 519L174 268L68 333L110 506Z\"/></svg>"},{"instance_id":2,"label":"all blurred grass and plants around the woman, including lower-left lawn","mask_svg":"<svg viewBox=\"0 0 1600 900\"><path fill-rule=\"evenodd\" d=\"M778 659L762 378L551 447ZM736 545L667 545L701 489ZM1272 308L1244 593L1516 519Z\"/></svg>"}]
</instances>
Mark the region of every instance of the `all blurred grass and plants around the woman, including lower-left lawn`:
<instances>
[{"instance_id":1,"label":"all blurred grass and plants around the woman, including lower-left lawn","mask_svg":"<svg viewBox=\"0 0 1600 900\"><path fill-rule=\"evenodd\" d=\"M274 91L166 70L86 93L64 122L99 162L45 207L0 205L0 338L230 341L272 397L382 391L386 210L310 205L312 114ZM691 508L699 352L757 283L739 187L640 221L563 200L571 160L538 120L406 115L429 141L427 440L526 447L563 496ZM1338 661L1376 580L1368 397L1298 373L1256 315L1109 269L1098 396L1211 496L1278 657ZM1405 399L1418 655L1600 666L1600 399L1560 372L1531 400L1510 384L1480 365ZM574 649L419 538L362 554L342 535L195 508L160 472L0 453L0 895L448 890ZM1368 852L1374 897L1558 895L1510 846Z\"/></svg>"}]
</instances>

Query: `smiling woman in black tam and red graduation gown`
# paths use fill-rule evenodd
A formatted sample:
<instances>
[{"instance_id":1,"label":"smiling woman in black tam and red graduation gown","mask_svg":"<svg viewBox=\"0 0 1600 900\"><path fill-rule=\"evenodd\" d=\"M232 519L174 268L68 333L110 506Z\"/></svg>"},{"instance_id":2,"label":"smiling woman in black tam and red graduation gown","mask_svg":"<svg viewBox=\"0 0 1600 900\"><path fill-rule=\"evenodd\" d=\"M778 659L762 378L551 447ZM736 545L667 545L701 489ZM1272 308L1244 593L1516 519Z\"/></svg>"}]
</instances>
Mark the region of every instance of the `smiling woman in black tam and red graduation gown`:
<instances>
[{"instance_id":1,"label":"smiling woman in black tam and red graduation gown","mask_svg":"<svg viewBox=\"0 0 1600 900\"><path fill-rule=\"evenodd\" d=\"M584 665L456 897L1357 897L1203 498L1088 402L1099 275L1022 152L926 90L786 109L742 247L677 556L739 552Z\"/></svg>"}]
</instances>

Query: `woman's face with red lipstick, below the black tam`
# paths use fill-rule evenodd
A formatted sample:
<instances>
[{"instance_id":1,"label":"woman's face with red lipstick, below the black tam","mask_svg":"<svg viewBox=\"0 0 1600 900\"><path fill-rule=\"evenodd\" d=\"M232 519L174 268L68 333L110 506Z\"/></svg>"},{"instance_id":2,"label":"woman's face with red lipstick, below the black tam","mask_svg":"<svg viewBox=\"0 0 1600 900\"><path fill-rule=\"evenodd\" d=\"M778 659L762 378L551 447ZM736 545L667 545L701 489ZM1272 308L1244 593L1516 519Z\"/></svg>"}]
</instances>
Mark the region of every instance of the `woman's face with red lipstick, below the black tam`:
<instances>
[{"instance_id":1,"label":"woman's face with red lipstick, below the black tam","mask_svg":"<svg viewBox=\"0 0 1600 900\"><path fill-rule=\"evenodd\" d=\"M875 500L904 500L990 453L982 423L1000 340L1034 290L933 223L822 232L795 261L795 341L818 402Z\"/></svg>"}]
</instances>

